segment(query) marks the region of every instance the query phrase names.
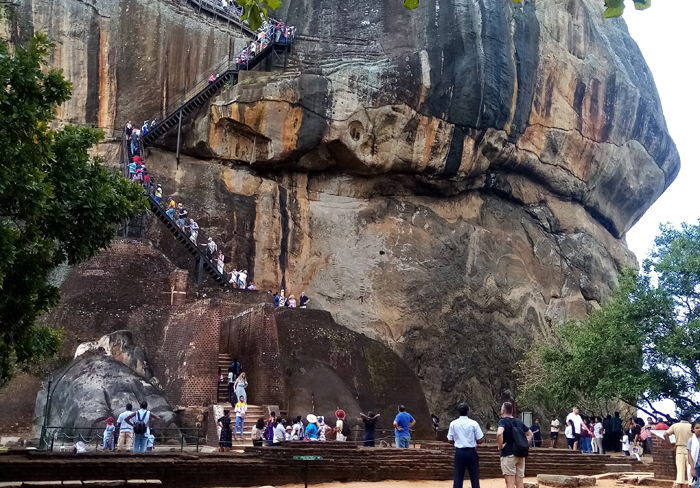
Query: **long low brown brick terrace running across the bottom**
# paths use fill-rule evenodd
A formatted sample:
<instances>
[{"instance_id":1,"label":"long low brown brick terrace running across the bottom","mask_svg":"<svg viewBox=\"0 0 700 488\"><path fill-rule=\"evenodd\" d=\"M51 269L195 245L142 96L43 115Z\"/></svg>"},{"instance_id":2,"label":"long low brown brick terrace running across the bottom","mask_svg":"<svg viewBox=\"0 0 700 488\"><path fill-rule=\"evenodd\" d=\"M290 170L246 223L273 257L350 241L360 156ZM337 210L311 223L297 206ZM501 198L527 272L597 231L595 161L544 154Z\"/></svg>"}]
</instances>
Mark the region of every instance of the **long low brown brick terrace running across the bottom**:
<instances>
[{"instance_id":1,"label":"long low brown brick terrace running across the bottom","mask_svg":"<svg viewBox=\"0 0 700 488\"><path fill-rule=\"evenodd\" d=\"M310 483L330 481L449 480L453 452L446 444L427 443L421 449L364 448L325 442L284 443L280 447L247 447L228 454L149 455L119 453L49 453L10 451L0 454L0 482L48 480L158 479L164 487L261 486L301 483L304 463L294 456L322 456L312 462ZM498 451L479 449L480 476L500 477ZM526 476L538 474L593 475L606 465L627 459L584 455L566 450L533 451ZM641 468L641 463L639 464Z\"/></svg>"}]
</instances>

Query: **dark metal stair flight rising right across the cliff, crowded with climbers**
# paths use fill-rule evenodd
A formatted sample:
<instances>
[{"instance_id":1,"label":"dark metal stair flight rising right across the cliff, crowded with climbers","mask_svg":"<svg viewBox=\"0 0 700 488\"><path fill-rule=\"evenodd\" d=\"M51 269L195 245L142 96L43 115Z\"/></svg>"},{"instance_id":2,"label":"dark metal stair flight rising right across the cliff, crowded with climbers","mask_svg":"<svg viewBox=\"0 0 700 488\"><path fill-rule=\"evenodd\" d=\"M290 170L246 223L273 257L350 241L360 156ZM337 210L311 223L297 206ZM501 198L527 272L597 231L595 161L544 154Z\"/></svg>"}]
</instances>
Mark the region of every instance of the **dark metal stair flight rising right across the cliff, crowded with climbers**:
<instances>
[{"instance_id":1,"label":"dark metal stair flight rising right across the cliff, crowded with climbers","mask_svg":"<svg viewBox=\"0 0 700 488\"><path fill-rule=\"evenodd\" d=\"M247 60L240 66L233 66L227 69L223 74L219 74L215 81L209 82L203 80L190 94L194 95L182 97L179 101L171 104L169 109L165 110L165 115L162 120L151 129L145 136L142 137L145 144L154 143L159 137L166 134L171 129L181 126L182 122L193 112L202 107L209 99L216 95L224 86L233 86L238 83L238 74L240 71L249 71L260 64L265 58L272 53L287 52L291 44L271 42L255 57ZM206 82L206 85L205 85Z\"/></svg>"}]
</instances>

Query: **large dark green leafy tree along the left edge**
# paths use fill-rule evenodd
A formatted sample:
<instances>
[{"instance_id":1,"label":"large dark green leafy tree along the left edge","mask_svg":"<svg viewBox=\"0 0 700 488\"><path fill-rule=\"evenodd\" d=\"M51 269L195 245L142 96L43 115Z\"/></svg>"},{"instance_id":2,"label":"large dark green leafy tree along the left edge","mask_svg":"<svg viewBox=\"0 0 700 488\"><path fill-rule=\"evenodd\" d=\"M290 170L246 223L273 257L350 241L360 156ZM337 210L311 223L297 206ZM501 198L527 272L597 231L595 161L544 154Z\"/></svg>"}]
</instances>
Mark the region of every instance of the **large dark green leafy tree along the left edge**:
<instances>
[{"instance_id":1,"label":"large dark green leafy tree along the left edge","mask_svg":"<svg viewBox=\"0 0 700 488\"><path fill-rule=\"evenodd\" d=\"M50 273L94 256L146 208L138 185L88 154L102 131L51 128L71 94L46 69L52 47L44 34L14 53L0 40L0 386L57 351L61 331L36 324L59 299Z\"/></svg>"}]
</instances>

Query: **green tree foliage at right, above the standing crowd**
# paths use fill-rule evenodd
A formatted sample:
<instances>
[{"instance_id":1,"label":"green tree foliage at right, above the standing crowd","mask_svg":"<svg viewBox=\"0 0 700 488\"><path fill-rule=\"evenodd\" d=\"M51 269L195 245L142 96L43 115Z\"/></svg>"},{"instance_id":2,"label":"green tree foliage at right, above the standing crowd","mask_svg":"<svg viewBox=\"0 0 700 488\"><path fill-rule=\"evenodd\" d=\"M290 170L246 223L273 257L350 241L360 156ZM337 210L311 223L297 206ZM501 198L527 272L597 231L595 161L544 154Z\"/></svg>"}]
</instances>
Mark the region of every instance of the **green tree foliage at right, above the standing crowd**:
<instances>
[{"instance_id":1,"label":"green tree foliage at right, above the standing crowd","mask_svg":"<svg viewBox=\"0 0 700 488\"><path fill-rule=\"evenodd\" d=\"M519 400L546 411L619 400L647 413L700 402L700 224L661 227L643 270L582 323L535 342L519 364Z\"/></svg>"}]
</instances>

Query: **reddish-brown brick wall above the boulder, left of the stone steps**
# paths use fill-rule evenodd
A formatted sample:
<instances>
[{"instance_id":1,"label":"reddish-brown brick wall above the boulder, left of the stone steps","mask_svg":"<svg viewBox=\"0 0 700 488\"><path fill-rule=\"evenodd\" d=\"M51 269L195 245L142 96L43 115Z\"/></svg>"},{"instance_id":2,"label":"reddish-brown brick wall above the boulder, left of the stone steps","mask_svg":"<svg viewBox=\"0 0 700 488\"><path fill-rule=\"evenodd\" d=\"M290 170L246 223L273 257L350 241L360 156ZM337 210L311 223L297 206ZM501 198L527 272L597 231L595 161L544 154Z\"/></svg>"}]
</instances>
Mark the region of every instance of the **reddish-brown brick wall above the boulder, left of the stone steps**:
<instances>
[{"instance_id":1,"label":"reddish-brown brick wall above the boulder, left of the stone steps","mask_svg":"<svg viewBox=\"0 0 700 488\"><path fill-rule=\"evenodd\" d=\"M43 321L64 328L63 361L82 342L130 330L166 398L185 407L216 402L222 319L271 300L263 292L197 288L186 271L137 239L118 239L73 268L61 295Z\"/></svg>"}]
</instances>

